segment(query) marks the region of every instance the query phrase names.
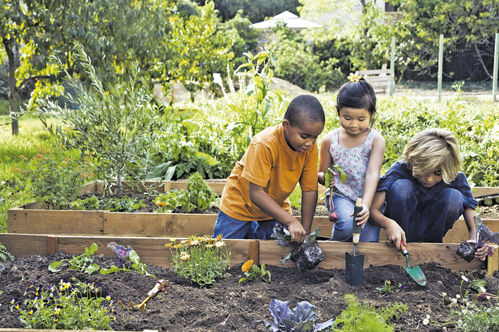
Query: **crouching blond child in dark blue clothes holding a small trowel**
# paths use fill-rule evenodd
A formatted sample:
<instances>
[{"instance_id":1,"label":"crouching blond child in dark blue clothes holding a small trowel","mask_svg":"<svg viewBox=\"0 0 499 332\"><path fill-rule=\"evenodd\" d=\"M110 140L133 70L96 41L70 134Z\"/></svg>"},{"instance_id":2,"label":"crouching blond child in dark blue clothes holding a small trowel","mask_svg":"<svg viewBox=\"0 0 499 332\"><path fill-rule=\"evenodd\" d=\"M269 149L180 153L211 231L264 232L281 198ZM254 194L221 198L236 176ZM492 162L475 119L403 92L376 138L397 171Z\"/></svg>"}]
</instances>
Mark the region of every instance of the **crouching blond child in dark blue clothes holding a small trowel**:
<instances>
[{"instance_id":1,"label":"crouching blond child in dark blue clothes holding a small trowel","mask_svg":"<svg viewBox=\"0 0 499 332\"><path fill-rule=\"evenodd\" d=\"M402 160L379 179L371 206L372 222L386 229L386 238L404 242L442 242L462 215L475 240L473 217L478 204L465 174L457 139L443 129L426 129L410 139ZM381 211L380 211L381 210ZM486 247L476 258L484 260Z\"/></svg>"}]
</instances>

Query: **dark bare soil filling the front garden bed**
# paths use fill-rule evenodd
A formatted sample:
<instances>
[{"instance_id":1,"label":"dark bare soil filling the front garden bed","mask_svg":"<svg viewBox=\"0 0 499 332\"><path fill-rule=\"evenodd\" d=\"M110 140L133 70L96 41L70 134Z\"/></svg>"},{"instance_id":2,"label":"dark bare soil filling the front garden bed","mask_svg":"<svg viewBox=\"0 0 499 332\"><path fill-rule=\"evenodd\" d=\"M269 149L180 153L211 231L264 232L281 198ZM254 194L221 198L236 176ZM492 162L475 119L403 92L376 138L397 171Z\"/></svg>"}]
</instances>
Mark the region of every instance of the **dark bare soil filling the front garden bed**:
<instances>
[{"instance_id":1,"label":"dark bare soil filling the front garden bed","mask_svg":"<svg viewBox=\"0 0 499 332\"><path fill-rule=\"evenodd\" d=\"M462 275L469 281L486 280L490 293L499 290L498 272L495 276L484 271L452 272L434 262L420 264L427 277L427 286L419 286L396 265L371 266L364 270L361 286L349 286L345 281L345 270L316 267L308 272L298 272L296 267L268 266L272 283L251 281L238 284L243 276L241 264L229 269L224 278L212 288L197 288L186 279L180 279L172 269L149 266L148 271L158 279L172 282L172 286L147 302L144 312L127 308L130 301L136 305L146 298L158 279L135 272L119 272L102 276L99 272L84 274L75 271L52 273L47 267L51 262L68 258L64 253L51 256L15 258L5 262L6 269L0 274L0 328L23 328L16 309L11 312L11 300L23 298L23 293L38 279L39 284L58 284L61 279L70 281L91 281L103 284L103 290L111 296L115 307L113 329L116 331L264 331L263 326L251 327L251 321L264 319L272 321L268 307L272 299L290 302L290 308L307 300L317 307L317 322L337 317L346 308L345 294L353 293L360 301L369 301L374 307L403 302L408 311L393 321L395 331L442 331L438 326L425 326L423 319L429 314L436 321L444 321L449 310L442 305L442 293L450 297L460 293ZM115 264L112 257L95 256L94 262L101 267ZM277 262L277 264L279 264ZM396 285L395 293L380 295L377 287L386 280ZM402 287L398 287L398 285ZM467 289L463 284L462 293ZM470 298L474 298L471 291ZM123 309L118 300L125 305ZM448 326L447 331L457 331Z\"/></svg>"}]
</instances>

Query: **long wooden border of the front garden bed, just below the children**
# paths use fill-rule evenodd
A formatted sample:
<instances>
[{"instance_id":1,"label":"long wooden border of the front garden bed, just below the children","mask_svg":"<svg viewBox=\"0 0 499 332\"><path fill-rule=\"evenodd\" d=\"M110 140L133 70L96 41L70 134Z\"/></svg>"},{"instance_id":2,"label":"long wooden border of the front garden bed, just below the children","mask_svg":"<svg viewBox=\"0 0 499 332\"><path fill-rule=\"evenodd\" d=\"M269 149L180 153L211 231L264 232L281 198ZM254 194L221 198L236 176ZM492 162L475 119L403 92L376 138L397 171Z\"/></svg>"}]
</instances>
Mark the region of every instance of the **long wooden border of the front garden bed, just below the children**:
<instances>
[{"instance_id":1,"label":"long wooden border of the front garden bed, just below the children","mask_svg":"<svg viewBox=\"0 0 499 332\"><path fill-rule=\"evenodd\" d=\"M180 238L178 239L180 240ZM227 249L231 252L231 264L246 262L251 258L255 247L255 240L224 240ZM30 255L47 255L47 237L42 235L25 234L0 234L0 243L6 246L9 253L25 257ZM120 245L130 245L139 255L141 262L154 264L160 267L170 267L171 253L165 247L170 240L165 238L139 238L139 237L106 237L106 236L57 236L58 250L70 255L82 255L85 248L91 243L99 246L99 254L113 257L113 251L106 247L108 243L115 242ZM30 243L30 245L26 245ZM319 241L324 253L324 261L319 264L324 269L344 269L345 253L353 251L352 243L338 241ZM472 271L488 267L488 271L495 271L498 267L499 253L496 251L488 262L472 260L466 262L455 254L458 244L446 243L408 243L410 264L415 266L424 262L437 262L454 271ZM277 241L259 241L258 257L260 264L279 266L279 260L286 256L290 247L281 247ZM364 267L373 265L396 264L405 265L405 257L386 243L360 243L356 250L357 255L365 255ZM253 254L254 255L254 254ZM488 264L488 265L486 265ZM286 262L285 267L292 267L293 262ZM490 272L489 272L490 273Z\"/></svg>"}]
</instances>

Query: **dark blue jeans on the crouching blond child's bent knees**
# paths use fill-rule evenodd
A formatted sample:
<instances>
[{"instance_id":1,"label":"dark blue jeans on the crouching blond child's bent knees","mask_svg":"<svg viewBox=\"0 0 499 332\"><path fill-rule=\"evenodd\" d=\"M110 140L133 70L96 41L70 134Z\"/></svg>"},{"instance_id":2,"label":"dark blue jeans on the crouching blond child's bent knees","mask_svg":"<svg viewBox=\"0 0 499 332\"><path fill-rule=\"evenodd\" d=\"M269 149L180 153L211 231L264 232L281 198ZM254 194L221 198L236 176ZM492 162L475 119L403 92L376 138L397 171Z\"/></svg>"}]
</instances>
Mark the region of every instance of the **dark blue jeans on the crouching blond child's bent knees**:
<instances>
[{"instance_id":1,"label":"dark blue jeans on the crouching blond child's bent knees","mask_svg":"<svg viewBox=\"0 0 499 332\"><path fill-rule=\"evenodd\" d=\"M409 179L398 179L386 192L384 215L402 227L408 242L441 243L466 210L467 199L457 189L443 189L433 198L430 195Z\"/></svg>"}]
</instances>

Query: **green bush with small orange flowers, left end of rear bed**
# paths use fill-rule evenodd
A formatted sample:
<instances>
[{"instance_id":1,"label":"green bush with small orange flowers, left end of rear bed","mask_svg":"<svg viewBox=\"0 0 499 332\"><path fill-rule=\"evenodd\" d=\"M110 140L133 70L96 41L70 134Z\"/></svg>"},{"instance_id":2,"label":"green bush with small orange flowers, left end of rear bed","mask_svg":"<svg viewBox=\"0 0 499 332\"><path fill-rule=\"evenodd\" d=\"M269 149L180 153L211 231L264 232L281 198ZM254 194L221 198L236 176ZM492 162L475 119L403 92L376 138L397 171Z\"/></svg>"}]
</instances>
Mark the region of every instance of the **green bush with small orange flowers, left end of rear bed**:
<instances>
[{"instance_id":1,"label":"green bush with small orange flowers, left end of rear bed","mask_svg":"<svg viewBox=\"0 0 499 332\"><path fill-rule=\"evenodd\" d=\"M20 156L21 159L25 157ZM34 198L45 209L66 210L80 194L80 186L94 178L89 158L58 160L51 150L39 148L25 170L15 167L27 183Z\"/></svg>"}]
</instances>

